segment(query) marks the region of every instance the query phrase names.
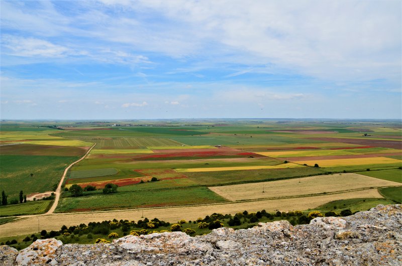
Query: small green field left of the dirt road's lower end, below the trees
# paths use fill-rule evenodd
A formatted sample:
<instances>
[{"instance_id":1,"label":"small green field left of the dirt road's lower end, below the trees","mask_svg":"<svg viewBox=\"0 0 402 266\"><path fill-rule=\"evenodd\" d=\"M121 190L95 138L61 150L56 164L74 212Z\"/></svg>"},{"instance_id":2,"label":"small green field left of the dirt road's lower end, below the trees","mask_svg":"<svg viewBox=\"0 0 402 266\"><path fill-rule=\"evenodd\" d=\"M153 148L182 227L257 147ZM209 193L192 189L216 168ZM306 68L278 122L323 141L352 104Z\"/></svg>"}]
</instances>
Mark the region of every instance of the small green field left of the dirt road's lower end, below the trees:
<instances>
[{"instance_id":1,"label":"small green field left of the dirt road's lower end, below the trees","mask_svg":"<svg viewBox=\"0 0 402 266\"><path fill-rule=\"evenodd\" d=\"M51 203L53 203L51 200L38 200L22 204L0 206L0 216L41 214L48 210Z\"/></svg>"}]
</instances>

